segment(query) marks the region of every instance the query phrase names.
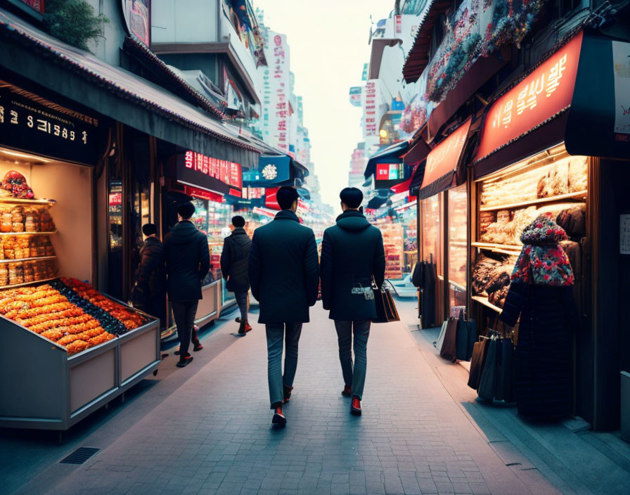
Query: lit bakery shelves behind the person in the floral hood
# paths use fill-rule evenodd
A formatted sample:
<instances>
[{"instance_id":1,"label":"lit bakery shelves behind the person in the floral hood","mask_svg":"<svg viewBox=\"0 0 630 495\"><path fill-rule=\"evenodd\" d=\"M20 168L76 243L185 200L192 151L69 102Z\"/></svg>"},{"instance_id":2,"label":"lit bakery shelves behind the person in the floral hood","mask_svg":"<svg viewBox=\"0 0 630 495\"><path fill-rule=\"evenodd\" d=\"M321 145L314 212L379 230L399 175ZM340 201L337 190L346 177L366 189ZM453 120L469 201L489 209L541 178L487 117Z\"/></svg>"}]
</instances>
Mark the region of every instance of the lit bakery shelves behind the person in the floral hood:
<instances>
[{"instance_id":1,"label":"lit bakery shelves behind the person in the floral hood","mask_svg":"<svg viewBox=\"0 0 630 495\"><path fill-rule=\"evenodd\" d=\"M569 236L563 248L576 274L574 293L581 297L588 172L587 157L568 155L560 145L477 181L473 300L501 312L522 248L522 230L548 212Z\"/></svg>"}]
</instances>

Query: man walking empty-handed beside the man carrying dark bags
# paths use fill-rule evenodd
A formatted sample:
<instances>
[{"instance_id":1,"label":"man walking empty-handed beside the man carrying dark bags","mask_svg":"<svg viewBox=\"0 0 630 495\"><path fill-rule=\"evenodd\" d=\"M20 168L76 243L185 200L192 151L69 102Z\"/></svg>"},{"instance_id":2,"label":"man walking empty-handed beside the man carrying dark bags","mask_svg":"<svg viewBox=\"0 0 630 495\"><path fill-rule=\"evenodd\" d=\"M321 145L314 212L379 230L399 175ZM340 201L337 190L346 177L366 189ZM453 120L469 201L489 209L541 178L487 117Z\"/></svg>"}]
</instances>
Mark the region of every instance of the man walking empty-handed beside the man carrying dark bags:
<instances>
[{"instance_id":1,"label":"man walking empty-handed beside the man carrying dark bags","mask_svg":"<svg viewBox=\"0 0 630 495\"><path fill-rule=\"evenodd\" d=\"M309 321L309 307L315 304L319 292L315 236L311 229L300 225L295 214L298 198L295 188L278 189L276 200L282 211L274 221L254 231L250 250L252 295L260 303L258 322L266 329L269 398L275 411L272 423L279 425L286 423L282 404L293 390L302 323Z\"/></svg>"}]
</instances>

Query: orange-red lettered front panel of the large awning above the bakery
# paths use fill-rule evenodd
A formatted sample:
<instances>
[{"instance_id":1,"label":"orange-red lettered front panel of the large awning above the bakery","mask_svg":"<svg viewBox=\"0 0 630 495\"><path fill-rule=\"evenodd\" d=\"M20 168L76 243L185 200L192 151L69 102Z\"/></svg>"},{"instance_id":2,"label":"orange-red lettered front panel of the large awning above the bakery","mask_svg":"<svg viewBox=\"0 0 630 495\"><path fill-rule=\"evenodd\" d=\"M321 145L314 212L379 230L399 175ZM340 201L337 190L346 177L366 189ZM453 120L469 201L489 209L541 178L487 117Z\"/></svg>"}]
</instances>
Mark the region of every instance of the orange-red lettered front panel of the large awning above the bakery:
<instances>
[{"instance_id":1,"label":"orange-red lettered front panel of the large awning above the bakery","mask_svg":"<svg viewBox=\"0 0 630 495\"><path fill-rule=\"evenodd\" d=\"M492 104L473 161L481 160L570 107L583 37L579 32Z\"/></svg>"}]
</instances>

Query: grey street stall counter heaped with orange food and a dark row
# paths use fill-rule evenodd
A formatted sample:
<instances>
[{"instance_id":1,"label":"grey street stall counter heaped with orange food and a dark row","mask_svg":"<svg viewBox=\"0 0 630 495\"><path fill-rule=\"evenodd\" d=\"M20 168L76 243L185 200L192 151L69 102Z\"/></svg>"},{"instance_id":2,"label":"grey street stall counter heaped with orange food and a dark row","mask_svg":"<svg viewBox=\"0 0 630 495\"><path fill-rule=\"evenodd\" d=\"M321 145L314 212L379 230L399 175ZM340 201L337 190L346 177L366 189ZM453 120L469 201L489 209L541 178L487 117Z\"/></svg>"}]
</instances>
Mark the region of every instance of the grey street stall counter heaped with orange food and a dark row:
<instances>
[{"instance_id":1,"label":"grey street stall counter heaped with orange food and a dark row","mask_svg":"<svg viewBox=\"0 0 630 495\"><path fill-rule=\"evenodd\" d=\"M73 278L0 291L0 332L2 427L68 430L160 364L157 319Z\"/></svg>"}]
</instances>

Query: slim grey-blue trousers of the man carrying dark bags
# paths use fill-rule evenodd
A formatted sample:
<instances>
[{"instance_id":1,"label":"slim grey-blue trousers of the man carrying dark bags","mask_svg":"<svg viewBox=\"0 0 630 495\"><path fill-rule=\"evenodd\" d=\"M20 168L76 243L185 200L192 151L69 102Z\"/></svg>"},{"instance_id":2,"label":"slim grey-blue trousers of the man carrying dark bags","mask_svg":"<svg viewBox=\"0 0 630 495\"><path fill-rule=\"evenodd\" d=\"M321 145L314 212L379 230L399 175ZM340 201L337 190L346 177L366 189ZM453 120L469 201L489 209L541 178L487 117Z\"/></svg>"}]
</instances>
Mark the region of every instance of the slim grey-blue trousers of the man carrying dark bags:
<instances>
[{"instance_id":1,"label":"slim grey-blue trousers of the man carrying dark bags","mask_svg":"<svg viewBox=\"0 0 630 495\"><path fill-rule=\"evenodd\" d=\"M335 320L339 342L339 361L345 385L352 386L352 395L361 400L366 384L368 367L368 337L370 336L370 320L341 321ZM354 366L352 364L352 333L354 330Z\"/></svg>"}]
</instances>

